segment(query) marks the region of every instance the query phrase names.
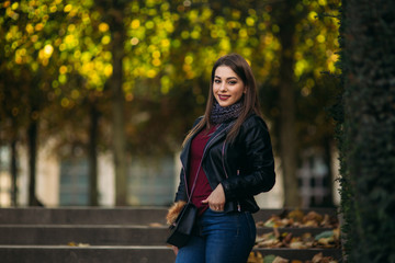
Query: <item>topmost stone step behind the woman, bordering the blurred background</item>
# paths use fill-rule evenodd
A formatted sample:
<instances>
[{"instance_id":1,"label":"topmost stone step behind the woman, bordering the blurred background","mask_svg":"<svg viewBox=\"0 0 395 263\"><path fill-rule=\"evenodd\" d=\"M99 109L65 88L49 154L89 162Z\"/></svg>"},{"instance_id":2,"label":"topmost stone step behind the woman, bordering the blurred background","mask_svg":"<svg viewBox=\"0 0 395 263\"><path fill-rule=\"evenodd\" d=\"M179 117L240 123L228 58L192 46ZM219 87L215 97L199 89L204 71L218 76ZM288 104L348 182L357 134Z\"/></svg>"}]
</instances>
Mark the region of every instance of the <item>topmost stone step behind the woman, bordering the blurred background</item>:
<instances>
[{"instance_id":1,"label":"topmost stone step behind the woman, bordering the blurred background","mask_svg":"<svg viewBox=\"0 0 395 263\"><path fill-rule=\"evenodd\" d=\"M165 225L167 209L168 207L0 208L0 225ZM253 218L256 221L266 221L272 215L281 215L293 209L261 209L253 214ZM305 214L314 210L321 215L337 215L336 208L312 208L301 210Z\"/></svg>"}]
</instances>

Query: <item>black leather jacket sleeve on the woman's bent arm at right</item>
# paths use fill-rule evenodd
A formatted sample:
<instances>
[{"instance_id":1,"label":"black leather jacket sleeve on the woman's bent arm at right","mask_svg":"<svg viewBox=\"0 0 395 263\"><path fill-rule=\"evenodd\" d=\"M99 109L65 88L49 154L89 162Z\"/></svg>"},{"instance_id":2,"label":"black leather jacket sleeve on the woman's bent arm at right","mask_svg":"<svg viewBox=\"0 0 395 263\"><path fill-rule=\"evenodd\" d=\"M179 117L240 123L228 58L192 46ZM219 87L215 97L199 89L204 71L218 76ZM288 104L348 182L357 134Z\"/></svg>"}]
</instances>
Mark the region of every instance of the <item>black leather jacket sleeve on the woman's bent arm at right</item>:
<instances>
[{"instance_id":1,"label":"black leather jacket sleeve on the woman's bent arm at right","mask_svg":"<svg viewBox=\"0 0 395 263\"><path fill-rule=\"evenodd\" d=\"M240 127L238 139L244 145L246 171L222 181L227 199L242 198L271 190L275 183L274 158L268 127L258 116Z\"/></svg>"}]
</instances>

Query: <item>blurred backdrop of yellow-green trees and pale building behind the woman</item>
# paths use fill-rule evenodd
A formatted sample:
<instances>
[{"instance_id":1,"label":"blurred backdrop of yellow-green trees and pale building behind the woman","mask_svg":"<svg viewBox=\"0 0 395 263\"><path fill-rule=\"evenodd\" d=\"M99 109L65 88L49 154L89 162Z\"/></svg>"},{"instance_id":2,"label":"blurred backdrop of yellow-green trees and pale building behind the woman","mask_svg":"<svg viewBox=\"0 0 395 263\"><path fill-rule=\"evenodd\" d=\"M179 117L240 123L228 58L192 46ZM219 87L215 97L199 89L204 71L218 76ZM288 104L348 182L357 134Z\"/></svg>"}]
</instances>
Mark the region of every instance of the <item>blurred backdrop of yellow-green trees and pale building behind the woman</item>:
<instances>
[{"instance_id":1,"label":"blurred backdrop of yellow-green trees and pale building behind the woman","mask_svg":"<svg viewBox=\"0 0 395 263\"><path fill-rule=\"evenodd\" d=\"M340 0L0 1L0 206L167 206L214 61L244 56L270 127L261 207L339 203Z\"/></svg>"}]
</instances>

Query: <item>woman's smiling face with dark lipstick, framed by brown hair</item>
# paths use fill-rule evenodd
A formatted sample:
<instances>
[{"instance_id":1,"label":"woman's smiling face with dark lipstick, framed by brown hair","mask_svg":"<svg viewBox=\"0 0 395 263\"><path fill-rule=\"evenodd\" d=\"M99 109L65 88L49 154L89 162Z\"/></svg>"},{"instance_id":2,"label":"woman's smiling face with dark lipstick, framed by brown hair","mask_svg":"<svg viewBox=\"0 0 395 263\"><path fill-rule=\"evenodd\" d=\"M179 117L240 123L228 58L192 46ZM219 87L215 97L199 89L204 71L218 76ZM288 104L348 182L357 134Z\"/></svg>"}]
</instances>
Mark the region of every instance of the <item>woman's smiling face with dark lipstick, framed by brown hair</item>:
<instances>
[{"instance_id":1,"label":"woman's smiling face with dark lipstick, framed by brown hair","mask_svg":"<svg viewBox=\"0 0 395 263\"><path fill-rule=\"evenodd\" d=\"M225 107L238 102L246 88L235 71L228 66L219 66L214 73L213 93L218 104Z\"/></svg>"}]
</instances>

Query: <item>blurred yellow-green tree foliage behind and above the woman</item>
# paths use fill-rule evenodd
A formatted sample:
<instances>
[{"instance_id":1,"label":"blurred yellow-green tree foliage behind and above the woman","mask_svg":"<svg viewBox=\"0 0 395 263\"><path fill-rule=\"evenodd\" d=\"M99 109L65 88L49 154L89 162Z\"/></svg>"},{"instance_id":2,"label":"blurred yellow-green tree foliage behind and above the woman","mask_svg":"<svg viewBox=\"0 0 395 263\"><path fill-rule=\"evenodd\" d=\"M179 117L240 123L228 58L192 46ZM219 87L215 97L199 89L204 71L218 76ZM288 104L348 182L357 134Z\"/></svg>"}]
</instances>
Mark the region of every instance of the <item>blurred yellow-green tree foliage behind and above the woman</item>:
<instances>
[{"instance_id":1,"label":"blurred yellow-green tree foliage behind and above the woman","mask_svg":"<svg viewBox=\"0 0 395 263\"><path fill-rule=\"evenodd\" d=\"M122 15L116 14L114 4L122 4ZM112 121L112 96L106 85L114 73L111 44L115 31L106 13L112 13L121 18L126 34L123 90L129 151L178 149L193 118L204 111L213 62L230 52L241 54L251 64L263 111L269 119L276 119L281 107L276 100L281 78L278 57L282 52L278 39L279 4L3 1L0 100L8 98L8 104L0 113L21 122L23 129L31 113L22 105L29 105L29 94L41 94L40 100L33 100L40 102L34 116L43 122L44 136L56 134L60 145L83 145L89 104L95 103L102 116L100 145L105 149L111 141L106 127ZM332 12L332 5L338 4L324 0L295 4L296 50L292 56L296 61L297 130L303 144L320 144L331 134L321 108L332 91L320 71L335 71L338 25L336 19L317 16ZM21 75L29 84L20 82ZM12 91L7 87L13 87Z\"/></svg>"}]
</instances>

